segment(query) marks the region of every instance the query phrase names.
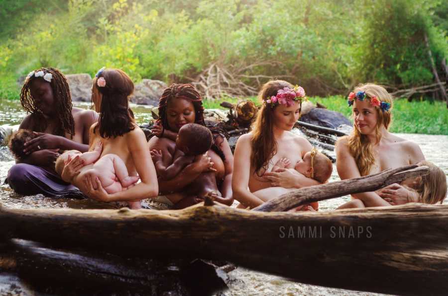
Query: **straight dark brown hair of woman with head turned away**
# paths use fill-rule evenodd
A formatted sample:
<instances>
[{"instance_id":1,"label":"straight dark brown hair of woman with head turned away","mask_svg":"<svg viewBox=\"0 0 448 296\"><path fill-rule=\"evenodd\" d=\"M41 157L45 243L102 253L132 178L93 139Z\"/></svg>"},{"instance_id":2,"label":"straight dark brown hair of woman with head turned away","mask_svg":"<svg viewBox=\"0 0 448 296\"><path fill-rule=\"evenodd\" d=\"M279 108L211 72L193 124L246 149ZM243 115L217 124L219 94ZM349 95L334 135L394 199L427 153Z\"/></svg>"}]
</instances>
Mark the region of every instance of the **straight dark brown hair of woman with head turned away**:
<instances>
[{"instance_id":1,"label":"straight dark brown hair of woman with head turned away","mask_svg":"<svg viewBox=\"0 0 448 296\"><path fill-rule=\"evenodd\" d=\"M100 77L104 77L106 86L98 86ZM129 108L129 96L134 91L131 78L119 69L105 69L93 79L93 88L103 95L99 124L95 126L94 132L99 127L101 137L111 138L132 131L135 120Z\"/></svg>"}]
</instances>

